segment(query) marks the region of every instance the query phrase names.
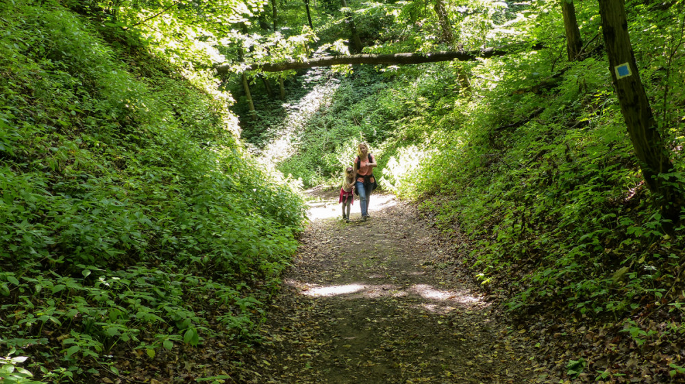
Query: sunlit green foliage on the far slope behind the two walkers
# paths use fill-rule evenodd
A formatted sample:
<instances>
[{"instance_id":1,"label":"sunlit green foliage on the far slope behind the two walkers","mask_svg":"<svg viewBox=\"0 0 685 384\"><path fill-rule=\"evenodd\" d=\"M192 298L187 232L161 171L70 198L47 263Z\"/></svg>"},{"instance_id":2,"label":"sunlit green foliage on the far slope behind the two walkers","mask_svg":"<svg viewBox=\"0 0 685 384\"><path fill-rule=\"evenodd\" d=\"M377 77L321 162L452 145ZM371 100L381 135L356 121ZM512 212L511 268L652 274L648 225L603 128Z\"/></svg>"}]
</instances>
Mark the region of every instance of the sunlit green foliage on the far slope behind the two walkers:
<instances>
[{"instance_id":1,"label":"sunlit green foliage on the far slope behind the two walkers","mask_svg":"<svg viewBox=\"0 0 685 384\"><path fill-rule=\"evenodd\" d=\"M290 141L295 151L278 159L279 170L301 179L307 187L337 185L343 168L356 156L356 144L368 142L379 162L374 174L381 178L384 188L397 192L397 184L406 183L415 163L425 156L418 146L412 147L430 136L422 125L423 118L455 123L452 114L438 112L432 116L429 110L432 102L441 103L441 107L450 103L440 98L456 94L456 85L443 88L443 81L453 79L440 66L422 66L409 70L408 75L419 73L421 81L412 84L403 76L407 73L399 70L377 73L361 67L341 79L328 79L312 71L303 84L309 93L306 97L297 94L305 101L301 105L288 103L292 112L288 115L281 110L283 123L266 127L273 123L269 116L279 114L277 106L266 104L263 108L273 112L258 114L256 122L242 123L243 136L258 151L269 151L277 138L275 132L295 131ZM319 105L307 110L314 98Z\"/></svg>"}]
</instances>

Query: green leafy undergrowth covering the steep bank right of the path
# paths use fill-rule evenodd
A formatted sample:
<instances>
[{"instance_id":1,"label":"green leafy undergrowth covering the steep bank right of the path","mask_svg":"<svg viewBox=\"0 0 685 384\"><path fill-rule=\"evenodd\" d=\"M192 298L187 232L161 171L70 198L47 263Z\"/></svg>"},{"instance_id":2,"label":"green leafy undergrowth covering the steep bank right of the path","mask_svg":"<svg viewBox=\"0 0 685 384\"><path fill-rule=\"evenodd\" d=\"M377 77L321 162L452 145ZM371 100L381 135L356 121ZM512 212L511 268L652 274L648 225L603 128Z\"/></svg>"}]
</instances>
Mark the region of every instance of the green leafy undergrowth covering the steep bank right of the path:
<instances>
[{"instance_id":1,"label":"green leafy undergrowth covering the steep bank right of the path","mask_svg":"<svg viewBox=\"0 0 685 384\"><path fill-rule=\"evenodd\" d=\"M669 225L639 172L607 66L603 57L569 64L542 94L517 95L529 84L501 82L460 118L464 129L434 136L434 155L406 192L445 231L468 236L471 251L459 263L526 324L522 331L551 337L553 326L563 330L554 337L590 340L570 341L573 355L558 364L567 377L672 381L684 372L683 227L664 229ZM671 81L648 78L651 94ZM671 97L682 105L682 94ZM682 172L682 121L660 125L670 128L662 133ZM544 328L527 329L531 319ZM611 343L598 349L595 333L611 335ZM631 367L650 360L640 374Z\"/></svg>"}]
</instances>

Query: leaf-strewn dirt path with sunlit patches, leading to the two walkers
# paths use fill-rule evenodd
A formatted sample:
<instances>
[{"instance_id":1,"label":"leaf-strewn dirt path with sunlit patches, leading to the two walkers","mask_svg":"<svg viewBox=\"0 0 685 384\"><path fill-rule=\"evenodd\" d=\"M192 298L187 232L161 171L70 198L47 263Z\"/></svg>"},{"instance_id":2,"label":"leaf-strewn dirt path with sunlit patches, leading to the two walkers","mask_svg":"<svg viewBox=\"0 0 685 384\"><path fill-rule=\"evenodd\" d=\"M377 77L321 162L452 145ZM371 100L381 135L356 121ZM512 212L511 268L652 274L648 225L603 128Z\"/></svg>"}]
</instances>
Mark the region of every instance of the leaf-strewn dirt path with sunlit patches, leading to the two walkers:
<instances>
[{"instance_id":1,"label":"leaf-strewn dirt path with sunlit patches, leading to the two walkers","mask_svg":"<svg viewBox=\"0 0 685 384\"><path fill-rule=\"evenodd\" d=\"M320 192L254 356L259 383L532 383L530 355L413 207Z\"/></svg>"}]
</instances>

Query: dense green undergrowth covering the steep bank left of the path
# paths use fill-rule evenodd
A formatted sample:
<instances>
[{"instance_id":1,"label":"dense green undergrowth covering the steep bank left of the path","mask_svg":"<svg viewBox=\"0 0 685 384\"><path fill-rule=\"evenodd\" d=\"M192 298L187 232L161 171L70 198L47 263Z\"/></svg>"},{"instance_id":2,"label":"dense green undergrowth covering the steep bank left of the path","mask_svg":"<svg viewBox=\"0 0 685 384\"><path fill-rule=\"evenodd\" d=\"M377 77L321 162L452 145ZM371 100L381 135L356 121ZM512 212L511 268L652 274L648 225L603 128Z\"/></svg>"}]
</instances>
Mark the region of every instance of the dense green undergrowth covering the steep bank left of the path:
<instances>
[{"instance_id":1,"label":"dense green undergrowth covering the steep bank left of the path","mask_svg":"<svg viewBox=\"0 0 685 384\"><path fill-rule=\"evenodd\" d=\"M3 382L238 350L297 248L291 183L245 153L211 77L58 1L0 11Z\"/></svg>"}]
</instances>

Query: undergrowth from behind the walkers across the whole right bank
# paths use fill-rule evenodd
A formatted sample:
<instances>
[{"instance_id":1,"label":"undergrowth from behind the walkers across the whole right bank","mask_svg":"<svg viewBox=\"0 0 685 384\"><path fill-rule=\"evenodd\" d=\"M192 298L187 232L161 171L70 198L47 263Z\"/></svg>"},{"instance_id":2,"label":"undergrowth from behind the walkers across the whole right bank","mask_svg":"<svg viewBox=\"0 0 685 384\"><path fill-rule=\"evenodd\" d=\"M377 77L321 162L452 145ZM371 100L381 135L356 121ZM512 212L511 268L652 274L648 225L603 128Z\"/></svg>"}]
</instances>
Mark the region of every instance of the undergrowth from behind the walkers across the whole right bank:
<instances>
[{"instance_id":1,"label":"undergrowth from behind the walkers across the whole right bank","mask_svg":"<svg viewBox=\"0 0 685 384\"><path fill-rule=\"evenodd\" d=\"M582 12L593 14L592 7ZM665 69L684 64L676 8L627 4L643 81L680 173L683 73ZM597 20L586 20L584 31L597 29ZM669 30L650 34L657 27ZM281 168L306 185L336 186L353 144L368 141L382 187L420 202L447 233L466 235L470 252L458 264L510 316L523 324L564 319L603 330L594 335L616 335L599 352L597 344L570 348L579 355L569 361L569 378L586 370L598 381L630 379L630 364L651 359L643 379L675 380L685 372L678 342L685 333L683 227L664 229L603 47L586 39L594 41L591 54L577 62L560 61L564 47L553 42L544 51L471 64L384 73L356 67ZM588 365L593 354L619 350L626 357L613 365Z\"/></svg>"}]
</instances>

